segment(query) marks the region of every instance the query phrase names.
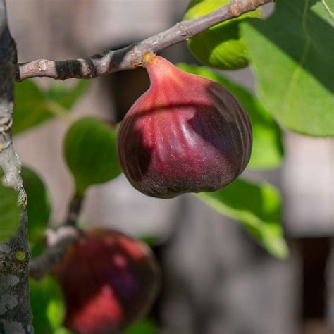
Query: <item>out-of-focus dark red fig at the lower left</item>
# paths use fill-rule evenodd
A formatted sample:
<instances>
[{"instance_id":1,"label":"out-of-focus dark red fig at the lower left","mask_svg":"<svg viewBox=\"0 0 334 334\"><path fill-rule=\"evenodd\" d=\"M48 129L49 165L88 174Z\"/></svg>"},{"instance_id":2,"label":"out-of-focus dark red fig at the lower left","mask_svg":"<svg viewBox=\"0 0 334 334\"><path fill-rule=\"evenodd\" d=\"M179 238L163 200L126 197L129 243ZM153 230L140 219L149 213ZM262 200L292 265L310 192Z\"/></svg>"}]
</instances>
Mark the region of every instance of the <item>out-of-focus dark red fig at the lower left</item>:
<instances>
[{"instance_id":1,"label":"out-of-focus dark red fig at the lower left","mask_svg":"<svg viewBox=\"0 0 334 334\"><path fill-rule=\"evenodd\" d=\"M54 272L66 303L64 326L113 334L145 316L159 270L146 245L106 228L82 232Z\"/></svg>"}]
</instances>

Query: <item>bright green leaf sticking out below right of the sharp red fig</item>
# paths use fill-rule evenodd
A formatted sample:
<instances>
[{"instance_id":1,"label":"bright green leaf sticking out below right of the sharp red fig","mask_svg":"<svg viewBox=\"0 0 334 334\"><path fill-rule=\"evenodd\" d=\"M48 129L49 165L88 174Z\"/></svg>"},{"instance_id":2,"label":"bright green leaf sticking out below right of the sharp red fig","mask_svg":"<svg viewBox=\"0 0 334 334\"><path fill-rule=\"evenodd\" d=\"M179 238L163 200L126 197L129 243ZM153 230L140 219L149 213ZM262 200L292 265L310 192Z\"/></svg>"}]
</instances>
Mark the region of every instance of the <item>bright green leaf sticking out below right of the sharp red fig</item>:
<instances>
[{"instance_id":1,"label":"bright green leaf sticking out below right of the sharp red fig","mask_svg":"<svg viewBox=\"0 0 334 334\"><path fill-rule=\"evenodd\" d=\"M195 196L221 214L240 221L273 256L280 259L288 256L280 225L280 193L272 185L239 178L222 190Z\"/></svg>"}]
</instances>

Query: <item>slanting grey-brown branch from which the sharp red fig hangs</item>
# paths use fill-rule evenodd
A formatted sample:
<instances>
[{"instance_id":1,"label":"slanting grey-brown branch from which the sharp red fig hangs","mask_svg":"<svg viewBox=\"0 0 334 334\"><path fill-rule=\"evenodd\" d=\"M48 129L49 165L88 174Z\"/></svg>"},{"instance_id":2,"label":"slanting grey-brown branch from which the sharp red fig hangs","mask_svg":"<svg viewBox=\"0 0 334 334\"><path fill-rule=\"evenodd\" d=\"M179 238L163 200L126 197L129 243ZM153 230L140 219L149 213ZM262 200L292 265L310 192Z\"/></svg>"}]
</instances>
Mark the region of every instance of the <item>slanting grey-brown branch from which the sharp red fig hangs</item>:
<instances>
[{"instance_id":1,"label":"slanting grey-brown branch from which the sharp red fig hangs","mask_svg":"<svg viewBox=\"0 0 334 334\"><path fill-rule=\"evenodd\" d=\"M184 20L141 42L131 44L123 49L107 49L101 54L94 54L87 58L67 61L38 59L28 63L20 63L16 70L16 80L22 81L33 77L49 77L60 80L68 78L91 79L120 70L132 70L142 66L145 53L158 53L174 44L185 42L213 25L236 18L248 11L254 11L268 2L273 2L273 0L232 0L229 4L206 16Z\"/></svg>"}]
</instances>

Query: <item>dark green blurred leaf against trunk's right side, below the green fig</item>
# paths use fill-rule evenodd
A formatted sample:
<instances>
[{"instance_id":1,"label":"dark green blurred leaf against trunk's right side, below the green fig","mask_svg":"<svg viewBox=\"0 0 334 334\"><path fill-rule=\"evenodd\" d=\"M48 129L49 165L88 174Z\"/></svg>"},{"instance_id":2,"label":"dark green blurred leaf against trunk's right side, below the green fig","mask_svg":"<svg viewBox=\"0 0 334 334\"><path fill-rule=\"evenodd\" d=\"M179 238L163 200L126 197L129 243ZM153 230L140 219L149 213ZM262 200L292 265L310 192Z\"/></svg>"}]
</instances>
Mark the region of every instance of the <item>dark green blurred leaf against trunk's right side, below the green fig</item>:
<instances>
[{"instance_id":1,"label":"dark green blurred leaf against trunk's right side, below the green fig","mask_svg":"<svg viewBox=\"0 0 334 334\"><path fill-rule=\"evenodd\" d=\"M21 175L25 192L27 192L29 241L40 242L44 240L51 213L49 192L42 178L32 169L23 166Z\"/></svg>"}]
</instances>

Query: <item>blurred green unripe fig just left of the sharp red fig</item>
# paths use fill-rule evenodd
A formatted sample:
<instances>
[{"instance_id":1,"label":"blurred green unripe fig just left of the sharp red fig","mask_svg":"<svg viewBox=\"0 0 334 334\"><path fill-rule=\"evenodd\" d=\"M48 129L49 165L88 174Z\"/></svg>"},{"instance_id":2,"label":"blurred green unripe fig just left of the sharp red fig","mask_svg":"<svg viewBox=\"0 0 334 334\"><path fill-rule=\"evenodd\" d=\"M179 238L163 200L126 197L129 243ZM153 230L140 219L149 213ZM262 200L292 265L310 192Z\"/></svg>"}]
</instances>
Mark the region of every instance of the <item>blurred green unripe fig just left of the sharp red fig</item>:
<instances>
[{"instance_id":1,"label":"blurred green unripe fig just left of the sharp red fig","mask_svg":"<svg viewBox=\"0 0 334 334\"><path fill-rule=\"evenodd\" d=\"M80 118L68 130L63 151L79 196L120 175L116 137L115 127L94 117Z\"/></svg>"}]
</instances>

